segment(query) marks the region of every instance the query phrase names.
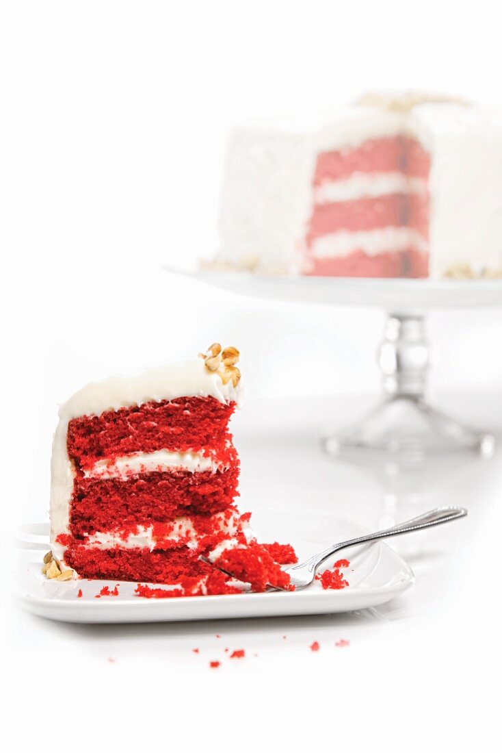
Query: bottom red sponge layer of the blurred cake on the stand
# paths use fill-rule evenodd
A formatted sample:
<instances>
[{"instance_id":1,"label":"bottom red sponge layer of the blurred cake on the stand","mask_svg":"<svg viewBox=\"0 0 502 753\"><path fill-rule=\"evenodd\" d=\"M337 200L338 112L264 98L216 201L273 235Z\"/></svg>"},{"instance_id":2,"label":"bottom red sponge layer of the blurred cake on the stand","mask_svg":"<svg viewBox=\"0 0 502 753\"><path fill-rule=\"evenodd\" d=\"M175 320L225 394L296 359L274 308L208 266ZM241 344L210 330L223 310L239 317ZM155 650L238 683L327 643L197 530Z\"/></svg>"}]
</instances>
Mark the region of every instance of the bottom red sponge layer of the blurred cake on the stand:
<instances>
[{"instance_id":1,"label":"bottom red sponge layer of the blurred cake on the stand","mask_svg":"<svg viewBox=\"0 0 502 753\"><path fill-rule=\"evenodd\" d=\"M413 249L370 256L364 251L336 258L309 258L304 274L325 277L427 277L429 257Z\"/></svg>"}]
</instances>

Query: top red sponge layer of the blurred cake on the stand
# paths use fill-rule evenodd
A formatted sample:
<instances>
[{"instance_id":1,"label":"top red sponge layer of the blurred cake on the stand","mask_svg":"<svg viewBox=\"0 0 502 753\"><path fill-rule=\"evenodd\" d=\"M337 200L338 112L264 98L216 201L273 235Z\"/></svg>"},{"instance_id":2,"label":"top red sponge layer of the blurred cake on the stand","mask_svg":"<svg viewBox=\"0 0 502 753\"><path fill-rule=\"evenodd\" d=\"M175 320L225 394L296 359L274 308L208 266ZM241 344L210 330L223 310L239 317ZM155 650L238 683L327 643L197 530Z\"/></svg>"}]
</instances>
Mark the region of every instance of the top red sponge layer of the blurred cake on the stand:
<instances>
[{"instance_id":1,"label":"top red sponge layer of the blurred cake on the stand","mask_svg":"<svg viewBox=\"0 0 502 753\"><path fill-rule=\"evenodd\" d=\"M368 139L357 147L321 152L314 185L348 178L354 172L403 172L413 178L427 178L430 166L431 157L416 139Z\"/></svg>"}]
</instances>

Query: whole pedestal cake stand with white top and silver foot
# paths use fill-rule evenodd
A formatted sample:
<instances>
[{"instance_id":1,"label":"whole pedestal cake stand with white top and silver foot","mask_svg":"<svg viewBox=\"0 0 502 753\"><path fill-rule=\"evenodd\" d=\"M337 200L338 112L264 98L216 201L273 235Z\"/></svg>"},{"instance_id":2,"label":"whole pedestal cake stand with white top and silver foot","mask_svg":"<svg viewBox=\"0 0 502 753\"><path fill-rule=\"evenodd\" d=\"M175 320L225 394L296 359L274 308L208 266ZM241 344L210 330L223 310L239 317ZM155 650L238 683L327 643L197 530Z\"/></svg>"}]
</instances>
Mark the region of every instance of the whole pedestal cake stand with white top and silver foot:
<instances>
[{"instance_id":1,"label":"whole pedestal cake stand with white top and silver foot","mask_svg":"<svg viewBox=\"0 0 502 753\"><path fill-rule=\"evenodd\" d=\"M179 270L171 270L178 271ZM328 431L327 453L403 461L476 451L490 456L494 437L475 431L427 401L425 319L433 309L502 306L502 280L357 279L200 271L194 279L233 293L294 303L378 306L388 319L379 349L384 398L346 431Z\"/></svg>"}]
</instances>

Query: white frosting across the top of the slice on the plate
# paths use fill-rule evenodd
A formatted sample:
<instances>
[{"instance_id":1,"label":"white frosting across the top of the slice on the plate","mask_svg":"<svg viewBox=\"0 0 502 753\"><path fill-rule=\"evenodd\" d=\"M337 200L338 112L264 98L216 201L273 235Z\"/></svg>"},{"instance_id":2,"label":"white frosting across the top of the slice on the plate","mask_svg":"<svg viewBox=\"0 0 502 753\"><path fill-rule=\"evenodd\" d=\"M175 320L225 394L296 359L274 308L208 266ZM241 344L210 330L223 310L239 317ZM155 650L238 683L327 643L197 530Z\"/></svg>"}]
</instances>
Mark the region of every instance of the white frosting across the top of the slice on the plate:
<instances>
[{"instance_id":1,"label":"white frosting across the top of the slice on the plate","mask_svg":"<svg viewBox=\"0 0 502 753\"><path fill-rule=\"evenodd\" d=\"M221 403L240 404L242 383L235 387L231 381L224 384L218 373L205 367L202 358L193 358L134 376L91 382L59 408L59 418L62 422L68 422L77 416L99 416L105 410L181 397L212 397Z\"/></svg>"}]
</instances>

